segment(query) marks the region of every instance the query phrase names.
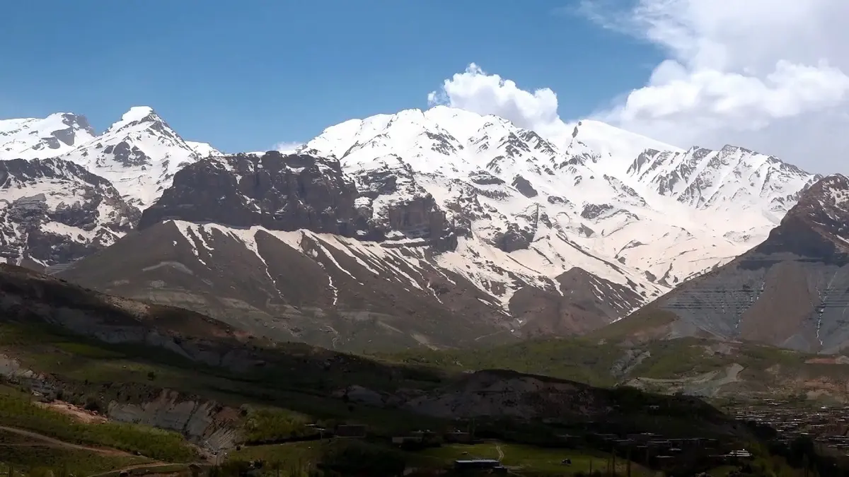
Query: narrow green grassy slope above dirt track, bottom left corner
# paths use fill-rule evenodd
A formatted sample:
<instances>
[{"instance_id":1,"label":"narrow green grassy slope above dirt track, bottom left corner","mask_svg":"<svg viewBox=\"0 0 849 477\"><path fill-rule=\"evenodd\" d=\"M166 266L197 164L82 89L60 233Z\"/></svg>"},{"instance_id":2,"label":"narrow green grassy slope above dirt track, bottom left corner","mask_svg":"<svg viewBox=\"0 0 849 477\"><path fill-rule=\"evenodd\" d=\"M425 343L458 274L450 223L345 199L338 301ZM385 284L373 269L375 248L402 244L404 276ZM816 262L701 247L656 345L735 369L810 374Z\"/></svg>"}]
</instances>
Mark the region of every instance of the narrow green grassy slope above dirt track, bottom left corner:
<instances>
[{"instance_id":1,"label":"narrow green grassy slope above dirt track, bottom left corner","mask_svg":"<svg viewBox=\"0 0 849 477\"><path fill-rule=\"evenodd\" d=\"M87 424L37 407L22 396L0 395L0 425L26 429L60 441L138 452L166 462L189 462L196 452L182 435L138 424Z\"/></svg>"}]
</instances>

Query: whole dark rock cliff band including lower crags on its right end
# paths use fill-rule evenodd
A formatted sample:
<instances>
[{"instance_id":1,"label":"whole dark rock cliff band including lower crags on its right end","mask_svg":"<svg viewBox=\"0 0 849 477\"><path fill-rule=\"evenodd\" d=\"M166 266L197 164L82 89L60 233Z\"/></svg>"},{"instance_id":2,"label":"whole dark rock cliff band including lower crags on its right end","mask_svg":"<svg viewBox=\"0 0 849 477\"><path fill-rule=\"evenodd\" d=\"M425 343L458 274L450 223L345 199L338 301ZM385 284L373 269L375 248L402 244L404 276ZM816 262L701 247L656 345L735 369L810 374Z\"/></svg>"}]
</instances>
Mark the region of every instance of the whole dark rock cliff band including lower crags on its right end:
<instances>
[{"instance_id":1,"label":"whole dark rock cliff band including lower crags on its right end","mask_svg":"<svg viewBox=\"0 0 849 477\"><path fill-rule=\"evenodd\" d=\"M373 177L383 190L396 184ZM140 228L166 219L216 222L269 230L306 229L361 240L396 239L393 233L441 243L451 234L432 198L393 204L385 220L363 213L363 194L340 163L310 154L238 154L200 160L177 172L171 188L144 211Z\"/></svg>"}]
</instances>

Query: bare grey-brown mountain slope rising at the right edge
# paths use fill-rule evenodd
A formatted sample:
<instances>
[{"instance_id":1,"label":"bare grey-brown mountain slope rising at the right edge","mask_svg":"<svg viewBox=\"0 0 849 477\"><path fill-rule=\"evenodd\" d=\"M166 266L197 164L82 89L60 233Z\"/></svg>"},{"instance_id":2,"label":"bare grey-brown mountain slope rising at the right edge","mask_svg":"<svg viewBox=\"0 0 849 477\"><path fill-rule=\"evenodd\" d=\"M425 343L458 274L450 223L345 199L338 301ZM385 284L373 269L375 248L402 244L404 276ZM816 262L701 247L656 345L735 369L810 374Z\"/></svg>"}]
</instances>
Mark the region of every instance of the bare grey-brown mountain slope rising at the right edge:
<instances>
[{"instance_id":1,"label":"bare grey-brown mountain slope rising at the right edge","mask_svg":"<svg viewBox=\"0 0 849 477\"><path fill-rule=\"evenodd\" d=\"M621 326L642 336L700 334L840 351L849 344L847 223L849 179L825 177L801 194L762 244Z\"/></svg>"}]
</instances>

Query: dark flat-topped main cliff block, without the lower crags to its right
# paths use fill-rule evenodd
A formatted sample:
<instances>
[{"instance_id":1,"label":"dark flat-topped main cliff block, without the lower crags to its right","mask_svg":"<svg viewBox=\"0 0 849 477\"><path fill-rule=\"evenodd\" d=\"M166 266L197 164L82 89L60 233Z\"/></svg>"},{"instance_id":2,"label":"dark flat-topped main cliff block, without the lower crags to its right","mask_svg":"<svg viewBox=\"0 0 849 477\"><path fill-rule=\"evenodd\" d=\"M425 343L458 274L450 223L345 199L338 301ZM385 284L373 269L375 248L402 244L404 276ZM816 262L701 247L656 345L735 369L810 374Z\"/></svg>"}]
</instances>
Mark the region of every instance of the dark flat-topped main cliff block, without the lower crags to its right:
<instances>
[{"instance_id":1,"label":"dark flat-topped main cliff block, without the lower crags to its right","mask_svg":"<svg viewBox=\"0 0 849 477\"><path fill-rule=\"evenodd\" d=\"M278 152L239 154L200 160L178 171L173 186L144 211L139 227L180 219L350 237L368 233L354 209L356 199L357 188L338 161Z\"/></svg>"}]
</instances>

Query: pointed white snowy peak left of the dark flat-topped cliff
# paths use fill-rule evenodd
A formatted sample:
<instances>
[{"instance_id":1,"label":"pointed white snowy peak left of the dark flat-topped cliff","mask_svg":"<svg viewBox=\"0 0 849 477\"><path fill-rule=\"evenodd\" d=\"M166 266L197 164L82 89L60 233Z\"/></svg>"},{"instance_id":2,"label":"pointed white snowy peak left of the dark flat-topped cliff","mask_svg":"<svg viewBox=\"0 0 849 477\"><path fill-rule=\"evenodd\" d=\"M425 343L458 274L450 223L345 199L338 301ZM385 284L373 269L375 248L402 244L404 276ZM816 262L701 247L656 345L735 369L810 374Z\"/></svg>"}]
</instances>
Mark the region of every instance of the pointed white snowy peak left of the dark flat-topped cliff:
<instances>
[{"instance_id":1,"label":"pointed white snowy peak left of the dark flat-topped cliff","mask_svg":"<svg viewBox=\"0 0 849 477\"><path fill-rule=\"evenodd\" d=\"M187 143L153 109L137 106L61 157L110 180L131 205L144 209L183 166L219 154L209 144Z\"/></svg>"}]
</instances>

